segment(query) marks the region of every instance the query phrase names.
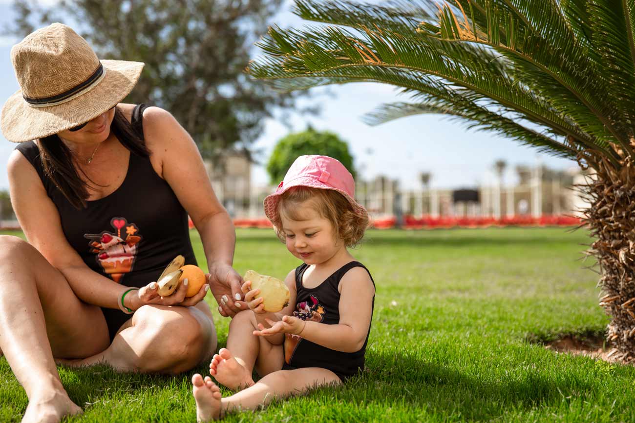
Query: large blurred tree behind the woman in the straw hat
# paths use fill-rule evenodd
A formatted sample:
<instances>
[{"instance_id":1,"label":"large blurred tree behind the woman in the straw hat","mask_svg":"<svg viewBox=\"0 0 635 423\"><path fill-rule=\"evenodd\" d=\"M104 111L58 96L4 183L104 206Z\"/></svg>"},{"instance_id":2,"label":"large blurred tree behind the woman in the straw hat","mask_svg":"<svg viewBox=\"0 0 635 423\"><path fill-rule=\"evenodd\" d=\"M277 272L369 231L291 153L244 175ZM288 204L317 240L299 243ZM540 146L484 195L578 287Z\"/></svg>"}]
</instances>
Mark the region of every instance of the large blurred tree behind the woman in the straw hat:
<instances>
[{"instance_id":1,"label":"large blurred tree behind the woman in the straw hat","mask_svg":"<svg viewBox=\"0 0 635 423\"><path fill-rule=\"evenodd\" d=\"M294 105L243 72L250 49L284 0L62 0L43 6L13 3L9 31L64 22L104 59L135 60L145 68L130 103L163 107L189 131L203 157L247 150L265 117Z\"/></svg>"}]
</instances>

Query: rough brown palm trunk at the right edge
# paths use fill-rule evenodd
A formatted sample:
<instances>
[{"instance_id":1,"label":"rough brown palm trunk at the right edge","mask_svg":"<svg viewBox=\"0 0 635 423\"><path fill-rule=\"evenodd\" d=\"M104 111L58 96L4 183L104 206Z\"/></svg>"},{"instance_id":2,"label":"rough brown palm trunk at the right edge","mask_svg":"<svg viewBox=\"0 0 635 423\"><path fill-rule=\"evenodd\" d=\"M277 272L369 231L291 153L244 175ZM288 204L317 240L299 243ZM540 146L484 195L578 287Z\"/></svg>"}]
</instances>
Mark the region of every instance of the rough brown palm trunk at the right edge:
<instances>
[{"instance_id":1,"label":"rough brown palm trunk at the right edge","mask_svg":"<svg viewBox=\"0 0 635 423\"><path fill-rule=\"evenodd\" d=\"M602 290L600 306L611 318L609 356L635 360L635 169L630 162L620 171L598 166L587 186L591 207L585 221L596 240L589 253L598 260Z\"/></svg>"}]
</instances>

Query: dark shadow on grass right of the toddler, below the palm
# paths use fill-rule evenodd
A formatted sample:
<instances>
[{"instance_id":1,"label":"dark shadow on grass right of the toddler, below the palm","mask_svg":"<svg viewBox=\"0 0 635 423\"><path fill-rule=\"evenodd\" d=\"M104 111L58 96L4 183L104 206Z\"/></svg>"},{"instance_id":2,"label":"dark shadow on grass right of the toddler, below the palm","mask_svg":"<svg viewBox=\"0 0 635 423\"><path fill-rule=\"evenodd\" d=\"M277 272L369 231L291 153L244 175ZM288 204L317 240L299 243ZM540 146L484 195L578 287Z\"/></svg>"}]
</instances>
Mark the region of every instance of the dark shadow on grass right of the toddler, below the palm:
<instances>
[{"instance_id":1,"label":"dark shadow on grass right of the toddler, below the palm","mask_svg":"<svg viewBox=\"0 0 635 423\"><path fill-rule=\"evenodd\" d=\"M592 386L575 378L552 378L540 368L523 368L500 379L463 374L453 368L428 363L408 355L367 355L364 374L351 382L349 394L364 398L380 389L381 401L391 407L407 401L413 407L465 420L494 420L506 410L555 406L573 391L592 396ZM513 369L518 370L518 368ZM555 380L554 380L555 379ZM365 396L370 398L370 396Z\"/></svg>"}]
</instances>

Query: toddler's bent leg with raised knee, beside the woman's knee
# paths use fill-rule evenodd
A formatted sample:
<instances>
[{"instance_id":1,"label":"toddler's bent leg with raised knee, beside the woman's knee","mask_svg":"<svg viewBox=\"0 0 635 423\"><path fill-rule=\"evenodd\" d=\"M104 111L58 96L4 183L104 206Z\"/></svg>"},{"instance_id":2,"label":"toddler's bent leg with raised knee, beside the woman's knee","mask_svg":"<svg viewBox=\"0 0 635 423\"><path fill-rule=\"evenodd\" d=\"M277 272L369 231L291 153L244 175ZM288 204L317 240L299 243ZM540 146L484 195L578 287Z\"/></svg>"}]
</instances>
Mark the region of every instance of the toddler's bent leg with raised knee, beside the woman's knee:
<instances>
[{"instance_id":1,"label":"toddler's bent leg with raised knee, beside the woman's knee","mask_svg":"<svg viewBox=\"0 0 635 423\"><path fill-rule=\"evenodd\" d=\"M258 329L253 311L238 313L229 323L227 348L218 351L210 363L210 374L218 383L232 389L253 385L254 366L264 376L283 366L283 346L273 345L265 337L253 335Z\"/></svg>"}]
</instances>

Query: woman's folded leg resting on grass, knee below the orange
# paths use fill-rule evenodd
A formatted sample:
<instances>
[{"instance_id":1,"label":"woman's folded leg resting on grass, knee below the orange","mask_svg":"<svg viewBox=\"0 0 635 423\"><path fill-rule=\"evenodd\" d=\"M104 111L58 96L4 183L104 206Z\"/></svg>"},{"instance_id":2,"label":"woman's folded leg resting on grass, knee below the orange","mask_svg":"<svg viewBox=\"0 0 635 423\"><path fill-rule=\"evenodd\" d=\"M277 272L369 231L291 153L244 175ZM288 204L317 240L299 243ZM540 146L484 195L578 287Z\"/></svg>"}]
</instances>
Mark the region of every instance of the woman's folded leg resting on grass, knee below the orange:
<instances>
[{"instance_id":1,"label":"woman's folded leg resting on grass, knee below the orange","mask_svg":"<svg viewBox=\"0 0 635 423\"><path fill-rule=\"evenodd\" d=\"M209 306L142 306L122 325L112 344L69 366L105 363L115 370L178 374L209 360L217 337Z\"/></svg>"}]
</instances>

